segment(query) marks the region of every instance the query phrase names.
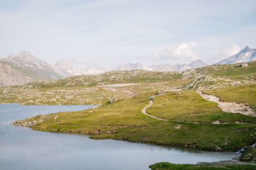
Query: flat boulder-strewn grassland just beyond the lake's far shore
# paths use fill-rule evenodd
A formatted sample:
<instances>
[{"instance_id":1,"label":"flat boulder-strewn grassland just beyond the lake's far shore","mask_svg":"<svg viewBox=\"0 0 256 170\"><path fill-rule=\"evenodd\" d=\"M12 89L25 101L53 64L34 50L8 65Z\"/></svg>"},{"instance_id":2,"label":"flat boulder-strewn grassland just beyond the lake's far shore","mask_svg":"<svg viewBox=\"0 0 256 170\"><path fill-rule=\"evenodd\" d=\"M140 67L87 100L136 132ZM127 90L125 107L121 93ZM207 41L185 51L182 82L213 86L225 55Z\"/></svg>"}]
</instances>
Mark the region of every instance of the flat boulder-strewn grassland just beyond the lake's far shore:
<instances>
[{"instance_id":1,"label":"flat boulder-strewn grassland just beyond the lake's far shore","mask_svg":"<svg viewBox=\"0 0 256 170\"><path fill-rule=\"evenodd\" d=\"M0 88L0 103L31 104L104 104L113 99L127 99L136 94L180 87L191 80L138 83L123 87L52 87L52 88Z\"/></svg>"}]
</instances>

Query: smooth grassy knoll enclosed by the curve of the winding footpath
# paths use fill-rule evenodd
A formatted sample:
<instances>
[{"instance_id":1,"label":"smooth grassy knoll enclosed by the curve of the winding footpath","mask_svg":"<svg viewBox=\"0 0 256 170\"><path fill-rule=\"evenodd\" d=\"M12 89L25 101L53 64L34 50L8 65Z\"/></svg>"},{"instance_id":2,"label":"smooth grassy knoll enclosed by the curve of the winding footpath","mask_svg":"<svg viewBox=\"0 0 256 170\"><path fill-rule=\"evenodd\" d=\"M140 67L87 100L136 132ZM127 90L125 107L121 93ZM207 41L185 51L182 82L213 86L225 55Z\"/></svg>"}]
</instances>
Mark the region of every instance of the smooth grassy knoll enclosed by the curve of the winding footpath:
<instances>
[{"instance_id":1,"label":"smooth grassy knoll enclosed by the curve of the winding footpath","mask_svg":"<svg viewBox=\"0 0 256 170\"><path fill-rule=\"evenodd\" d=\"M255 87L253 90L256 90ZM250 92L250 89L248 91ZM225 92L230 92L230 96L232 96L232 92L239 95L239 92L234 89L225 90ZM244 93L243 97L240 96L241 98L251 99L251 96L246 96ZM171 92L154 97L154 104L147 109L147 113L168 120L186 122L211 123L219 120L228 124L234 124L236 121L256 124L256 117L223 112L217 103L207 101L192 91Z\"/></svg>"}]
</instances>

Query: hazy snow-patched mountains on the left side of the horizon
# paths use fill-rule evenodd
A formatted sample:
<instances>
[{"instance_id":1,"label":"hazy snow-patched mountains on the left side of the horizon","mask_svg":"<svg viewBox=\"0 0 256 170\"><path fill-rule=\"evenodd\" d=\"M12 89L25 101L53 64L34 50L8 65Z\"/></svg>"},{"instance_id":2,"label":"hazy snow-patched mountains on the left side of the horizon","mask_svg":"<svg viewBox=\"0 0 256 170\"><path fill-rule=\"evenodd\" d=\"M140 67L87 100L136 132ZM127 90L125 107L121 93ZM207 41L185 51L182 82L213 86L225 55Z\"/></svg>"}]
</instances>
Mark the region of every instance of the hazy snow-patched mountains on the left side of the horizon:
<instances>
[{"instance_id":1,"label":"hazy snow-patched mountains on the left side of the horizon","mask_svg":"<svg viewBox=\"0 0 256 170\"><path fill-rule=\"evenodd\" d=\"M58 60L54 66L36 58L29 52L11 53L0 58L0 86L23 85L35 80L53 80L81 74L99 74L98 69L78 69L66 60Z\"/></svg>"}]
</instances>

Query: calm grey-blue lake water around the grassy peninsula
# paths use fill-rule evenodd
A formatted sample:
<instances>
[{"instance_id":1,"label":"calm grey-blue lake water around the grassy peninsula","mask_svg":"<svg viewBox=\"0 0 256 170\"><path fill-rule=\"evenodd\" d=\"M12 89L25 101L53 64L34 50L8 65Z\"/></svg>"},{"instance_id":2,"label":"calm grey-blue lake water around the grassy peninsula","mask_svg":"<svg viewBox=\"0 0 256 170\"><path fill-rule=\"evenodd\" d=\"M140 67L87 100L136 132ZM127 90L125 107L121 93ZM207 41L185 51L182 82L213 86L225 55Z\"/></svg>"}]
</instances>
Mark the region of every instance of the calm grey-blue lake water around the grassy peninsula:
<instances>
[{"instance_id":1,"label":"calm grey-blue lake water around the grassy peninsula","mask_svg":"<svg viewBox=\"0 0 256 170\"><path fill-rule=\"evenodd\" d=\"M33 131L10 125L15 120L84 110L92 106L20 106L0 104L0 169L149 169L156 162L175 164L231 160L240 153L202 152L81 134Z\"/></svg>"}]
</instances>

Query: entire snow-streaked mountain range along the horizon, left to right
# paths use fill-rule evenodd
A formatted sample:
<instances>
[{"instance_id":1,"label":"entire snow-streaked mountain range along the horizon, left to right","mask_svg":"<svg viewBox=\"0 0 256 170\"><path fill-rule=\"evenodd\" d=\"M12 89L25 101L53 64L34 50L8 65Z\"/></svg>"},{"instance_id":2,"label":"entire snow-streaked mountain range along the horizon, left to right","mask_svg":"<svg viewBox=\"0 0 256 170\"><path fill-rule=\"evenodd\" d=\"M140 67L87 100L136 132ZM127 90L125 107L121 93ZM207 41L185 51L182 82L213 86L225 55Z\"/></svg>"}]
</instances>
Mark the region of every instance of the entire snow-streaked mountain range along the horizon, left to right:
<instances>
[{"instance_id":1,"label":"entire snow-streaked mountain range along the horizon, left to right","mask_svg":"<svg viewBox=\"0 0 256 170\"><path fill-rule=\"evenodd\" d=\"M237 62L249 62L256 60L256 49L246 46L241 52L223 59L216 64L234 64ZM117 67L116 71L136 70L145 71L184 71L191 68L207 66L202 60L195 60L190 64L160 64L146 66L141 63L124 64ZM58 60L54 66L36 58L29 52L22 51L18 54L11 53L6 58L0 57L0 86L6 85L23 85L29 81L35 80L52 80L75 76L81 74L100 74L105 71L89 68L81 70L72 66L66 60Z\"/></svg>"}]
</instances>

